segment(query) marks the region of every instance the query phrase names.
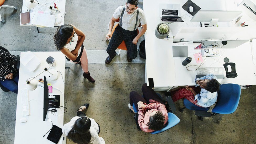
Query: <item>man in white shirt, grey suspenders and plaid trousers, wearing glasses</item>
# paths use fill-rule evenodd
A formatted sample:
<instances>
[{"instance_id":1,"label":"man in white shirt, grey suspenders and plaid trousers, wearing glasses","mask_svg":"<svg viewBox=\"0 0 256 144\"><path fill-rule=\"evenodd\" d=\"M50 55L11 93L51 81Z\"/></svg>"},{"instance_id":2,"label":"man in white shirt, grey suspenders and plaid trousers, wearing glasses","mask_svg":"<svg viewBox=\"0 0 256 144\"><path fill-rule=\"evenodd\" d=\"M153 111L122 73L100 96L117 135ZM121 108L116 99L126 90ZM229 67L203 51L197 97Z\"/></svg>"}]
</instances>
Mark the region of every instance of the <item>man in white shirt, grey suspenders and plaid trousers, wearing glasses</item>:
<instances>
[{"instance_id":1,"label":"man in white shirt, grey suspenders and plaid trousers, wearing glasses","mask_svg":"<svg viewBox=\"0 0 256 144\"><path fill-rule=\"evenodd\" d=\"M109 56L106 58L105 63L109 64L116 56L115 50L124 40L127 47L127 61L131 62L132 59L137 57L137 42L138 39L146 32L147 24L145 14L142 9L137 7L138 0L127 0L124 6L120 6L115 10L113 17L110 20L109 32L106 35L106 40L110 39L111 31L114 23L119 19L119 25L116 27L113 35L111 36L107 53ZM142 29L137 34L137 28L141 24Z\"/></svg>"}]
</instances>

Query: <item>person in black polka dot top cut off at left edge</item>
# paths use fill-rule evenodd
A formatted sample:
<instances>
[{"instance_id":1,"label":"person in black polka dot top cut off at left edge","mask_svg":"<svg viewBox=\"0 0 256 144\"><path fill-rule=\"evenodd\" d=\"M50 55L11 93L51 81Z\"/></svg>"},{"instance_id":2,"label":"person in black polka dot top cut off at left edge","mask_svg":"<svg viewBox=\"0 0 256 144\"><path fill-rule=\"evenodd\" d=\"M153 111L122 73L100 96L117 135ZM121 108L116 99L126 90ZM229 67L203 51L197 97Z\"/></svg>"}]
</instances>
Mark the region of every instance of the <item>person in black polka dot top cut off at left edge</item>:
<instances>
[{"instance_id":1,"label":"person in black polka dot top cut off at left edge","mask_svg":"<svg viewBox=\"0 0 256 144\"><path fill-rule=\"evenodd\" d=\"M14 55L0 49L0 84L14 93L18 93L19 70Z\"/></svg>"}]
</instances>

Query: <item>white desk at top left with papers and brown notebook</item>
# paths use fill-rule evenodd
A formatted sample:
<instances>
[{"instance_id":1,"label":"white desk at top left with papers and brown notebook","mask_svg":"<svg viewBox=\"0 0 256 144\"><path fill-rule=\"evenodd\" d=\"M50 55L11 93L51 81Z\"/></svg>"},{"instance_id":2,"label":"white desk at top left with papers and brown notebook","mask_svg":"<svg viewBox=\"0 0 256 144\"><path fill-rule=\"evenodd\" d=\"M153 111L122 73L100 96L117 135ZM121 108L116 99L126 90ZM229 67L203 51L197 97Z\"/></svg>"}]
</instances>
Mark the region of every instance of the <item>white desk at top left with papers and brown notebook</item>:
<instances>
[{"instance_id":1,"label":"white desk at top left with papers and brown notebook","mask_svg":"<svg viewBox=\"0 0 256 144\"><path fill-rule=\"evenodd\" d=\"M26 0L23 0L22 12L27 12L27 10L29 11L29 9L25 5L25 1ZM40 4L45 4L46 6L49 6L49 7L50 6L54 7L54 3L56 3L60 13L55 12L55 14L60 14L62 16L65 13L66 0L59 0L59 1L54 1L54 2L52 2L53 0L37 0L37 1ZM33 12L37 12L38 10L40 10L40 11L49 11L50 12L49 8L47 8L45 6L41 6L41 5L38 5L34 9L31 9L31 10L33 10ZM62 17L61 23L54 24L54 26L58 27L58 26L63 25L64 24L64 17L65 17L65 15L63 15L63 17ZM23 24L22 25L21 22L20 22L20 26L36 26L36 25L31 25L31 24Z\"/></svg>"}]
</instances>

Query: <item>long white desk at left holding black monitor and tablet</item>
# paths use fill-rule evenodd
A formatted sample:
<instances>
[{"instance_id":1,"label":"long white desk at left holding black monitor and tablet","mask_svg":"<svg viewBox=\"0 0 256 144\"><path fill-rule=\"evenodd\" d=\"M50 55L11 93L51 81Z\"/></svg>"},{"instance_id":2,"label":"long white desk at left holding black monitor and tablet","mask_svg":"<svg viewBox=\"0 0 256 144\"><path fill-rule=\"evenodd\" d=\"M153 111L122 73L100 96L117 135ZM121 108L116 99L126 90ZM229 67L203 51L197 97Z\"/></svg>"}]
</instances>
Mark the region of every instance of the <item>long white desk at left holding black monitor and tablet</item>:
<instances>
[{"instance_id":1,"label":"long white desk at left holding black monitor and tablet","mask_svg":"<svg viewBox=\"0 0 256 144\"><path fill-rule=\"evenodd\" d=\"M48 56L52 56L55 58L56 66L53 68L62 73L63 79L65 80L65 56L61 52L33 52L35 56L37 56L41 63L36 68L34 72L30 72L25 66L20 64L19 70L19 85L18 85L18 96L17 96L17 110L16 110L16 123L15 123L15 138L14 143L17 144L28 144L28 143L42 143L42 144L52 144L51 141L47 140L48 134L43 137L43 135L50 130L52 123L48 119L48 121L43 121L43 88L38 86L35 90L29 91L29 107L30 107L30 115L24 116L27 118L27 122L21 123L20 118L22 118L22 98L20 91L25 88L26 79L36 76L40 72L44 70L45 67L49 67L49 64L46 63L46 58ZM20 54L21 58L25 55L24 52ZM44 72L40 74L35 79L44 78L44 75L47 76L48 72ZM59 94L60 95L60 105L64 105L64 83L61 78L61 74L58 75L57 80L51 81L47 79L47 83L52 84L52 87L58 88L53 89L53 93L49 94ZM43 86L43 84L41 84ZM33 99L33 100L32 100ZM60 110L62 109L62 110ZM61 116L55 116L61 115ZM55 115L48 114L48 118L50 118L54 125L62 128L63 127L63 108L58 108ZM62 135L64 137L64 135ZM62 137L60 138L59 144L62 144ZM66 137L65 137L66 143Z\"/></svg>"}]
</instances>

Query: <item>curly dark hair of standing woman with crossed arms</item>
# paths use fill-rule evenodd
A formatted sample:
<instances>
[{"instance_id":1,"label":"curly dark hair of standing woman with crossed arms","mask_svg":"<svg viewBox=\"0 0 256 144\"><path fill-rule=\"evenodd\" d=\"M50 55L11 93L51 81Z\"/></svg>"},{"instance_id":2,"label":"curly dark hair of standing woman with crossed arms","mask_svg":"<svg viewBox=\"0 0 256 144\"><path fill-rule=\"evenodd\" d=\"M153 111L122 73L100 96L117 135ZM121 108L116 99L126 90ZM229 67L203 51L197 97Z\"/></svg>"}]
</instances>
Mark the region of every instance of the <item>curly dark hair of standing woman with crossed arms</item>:
<instances>
[{"instance_id":1,"label":"curly dark hair of standing woman with crossed arms","mask_svg":"<svg viewBox=\"0 0 256 144\"><path fill-rule=\"evenodd\" d=\"M57 50L62 49L63 46L66 45L68 38L72 36L73 30L74 28L70 24L64 24L57 28L57 31L53 36Z\"/></svg>"}]
</instances>

